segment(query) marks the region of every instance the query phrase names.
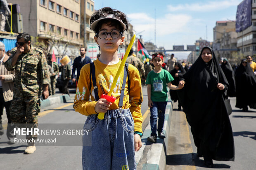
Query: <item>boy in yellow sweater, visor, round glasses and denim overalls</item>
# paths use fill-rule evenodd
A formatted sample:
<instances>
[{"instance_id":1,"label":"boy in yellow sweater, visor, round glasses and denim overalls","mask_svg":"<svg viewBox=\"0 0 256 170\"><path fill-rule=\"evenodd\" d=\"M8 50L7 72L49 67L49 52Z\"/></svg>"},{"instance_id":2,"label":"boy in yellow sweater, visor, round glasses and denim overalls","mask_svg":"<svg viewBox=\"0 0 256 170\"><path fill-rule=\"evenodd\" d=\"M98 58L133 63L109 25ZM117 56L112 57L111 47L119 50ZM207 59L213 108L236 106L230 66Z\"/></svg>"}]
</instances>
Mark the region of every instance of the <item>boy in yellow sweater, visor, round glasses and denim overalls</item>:
<instances>
[{"instance_id":1,"label":"boy in yellow sweater, visor, round glasses and denim overalls","mask_svg":"<svg viewBox=\"0 0 256 170\"><path fill-rule=\"evenodd\" d=\"M92 14L90 23L101 55L81 69L73 105L76 112L88 116L83 135L83 169L135 170L135 151L142 145L139 71L130 64L123 68L112 93L115 102L99 98L109 92L121 64L117 50L124 42L128 19L123 12L104 7ZM105 113L103 120L97 119L100 112Z\"/></svg>"}]
</instances>

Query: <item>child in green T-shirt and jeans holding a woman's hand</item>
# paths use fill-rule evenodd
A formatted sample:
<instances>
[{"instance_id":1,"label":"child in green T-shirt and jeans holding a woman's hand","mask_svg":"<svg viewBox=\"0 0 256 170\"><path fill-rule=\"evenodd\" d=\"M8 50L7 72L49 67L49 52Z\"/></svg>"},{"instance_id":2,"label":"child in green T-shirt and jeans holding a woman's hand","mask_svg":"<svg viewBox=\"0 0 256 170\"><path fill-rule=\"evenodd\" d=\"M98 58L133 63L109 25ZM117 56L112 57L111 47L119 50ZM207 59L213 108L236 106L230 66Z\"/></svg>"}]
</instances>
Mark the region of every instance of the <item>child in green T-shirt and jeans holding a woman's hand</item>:
<instances>
[{"instance_id":1,"label":"child in green T-shirt and jeans holding a woman's hand","mask_svg":"<svg viewBox=\"0 0 256 170\"><path fill-rule=\"evenodd\" d=\"M152 55L153 64L155 66L154 70L149 72L147 75L147 98L148 106L150 107L150 126L151 135L147 138L148 141L156 143L156 121L158 119L158 137L165 138L163 133L164 127L164 114L165 108L168 101L168 91L167 85L171 90L181 89L183 86L179 84L175 86L171 84L174 80L171 74L162 69L162 64L164 62L163 53L155 53Z\"/></svg>"}]
</instances>

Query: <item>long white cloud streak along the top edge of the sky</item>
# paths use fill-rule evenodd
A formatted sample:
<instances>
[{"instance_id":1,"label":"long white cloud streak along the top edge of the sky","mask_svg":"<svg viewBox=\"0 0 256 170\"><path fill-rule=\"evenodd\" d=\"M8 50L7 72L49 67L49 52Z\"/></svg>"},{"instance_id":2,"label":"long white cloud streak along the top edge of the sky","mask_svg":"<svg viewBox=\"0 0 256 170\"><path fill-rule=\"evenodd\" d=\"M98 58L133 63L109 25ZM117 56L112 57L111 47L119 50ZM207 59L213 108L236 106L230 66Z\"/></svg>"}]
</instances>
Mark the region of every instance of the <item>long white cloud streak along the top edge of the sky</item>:
<instances>
[{"instance_id":1,"label":"long white cloud streak along the top edge of the sky","mask_svg":"<svg viewBox=\"0 0 256 170\"><path fill-rule=\"evenodd\" d=\"M242 0L224 0L224 1L209 1L208 3L201 2L194 4L180 4L178 6L168 5L171 12L174 11L195 11L195 12L209 12L220 9L226 9L231 6L237 6Z\"/></svg>"}]
</instances>

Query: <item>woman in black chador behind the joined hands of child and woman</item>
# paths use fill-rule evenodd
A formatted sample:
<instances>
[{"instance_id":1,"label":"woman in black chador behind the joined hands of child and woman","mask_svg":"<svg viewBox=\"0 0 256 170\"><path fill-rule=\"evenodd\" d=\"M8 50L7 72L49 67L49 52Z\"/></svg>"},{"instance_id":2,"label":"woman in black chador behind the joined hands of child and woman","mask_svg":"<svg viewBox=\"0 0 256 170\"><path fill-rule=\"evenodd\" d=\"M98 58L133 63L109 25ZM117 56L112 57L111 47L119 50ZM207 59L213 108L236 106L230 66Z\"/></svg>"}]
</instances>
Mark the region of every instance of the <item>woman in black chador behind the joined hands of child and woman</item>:
<instances>
[{"instance_id":1,"label":"woman in black chador behind the joined hands of child and woman","mask_svg":"<svg viewBox=\"0 0 256 170\"><path fill-rule=\"evenodd\" d=\"M172 84L178 86L181 77L185 74L185 69L183 68L183 66L177 62L174 65L174 69L171 70L171 75L173 76L174 80L171 82ZM178 95L177 95L177 91L176 90L170 90L170 95L171 95L171 100L173 100L173 102L176 102L178 100L178 110L181 110L181 104L180 101L178 99Z\"/></svg>"}]
</instances>

